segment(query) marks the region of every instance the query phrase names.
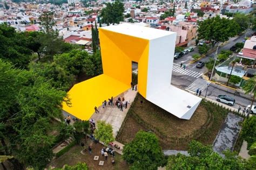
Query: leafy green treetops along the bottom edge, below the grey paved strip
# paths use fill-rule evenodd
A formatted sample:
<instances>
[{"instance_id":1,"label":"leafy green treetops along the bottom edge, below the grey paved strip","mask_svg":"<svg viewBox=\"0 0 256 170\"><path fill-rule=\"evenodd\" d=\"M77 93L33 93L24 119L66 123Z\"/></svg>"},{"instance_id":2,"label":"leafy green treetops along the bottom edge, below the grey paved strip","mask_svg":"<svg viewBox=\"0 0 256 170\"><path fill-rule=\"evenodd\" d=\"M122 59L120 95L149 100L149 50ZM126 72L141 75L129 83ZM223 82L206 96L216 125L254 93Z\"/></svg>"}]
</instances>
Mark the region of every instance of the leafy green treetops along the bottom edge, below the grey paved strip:
<instances>
[{"instance_id":1,"label":"leafy green treetops along the bottom edge, below the grey paved strip","mask_svg":"<svg viewBox=\"0 0 256 170\"><path fill-rule=\"evenodd\" d=\"M251 169L251 164L237 157L236 154L225 151L225 158L213 152L212 146L204 146L198 141L192 141L189 156L171 155L166 169Z\"/></svg>"}]
</instances>

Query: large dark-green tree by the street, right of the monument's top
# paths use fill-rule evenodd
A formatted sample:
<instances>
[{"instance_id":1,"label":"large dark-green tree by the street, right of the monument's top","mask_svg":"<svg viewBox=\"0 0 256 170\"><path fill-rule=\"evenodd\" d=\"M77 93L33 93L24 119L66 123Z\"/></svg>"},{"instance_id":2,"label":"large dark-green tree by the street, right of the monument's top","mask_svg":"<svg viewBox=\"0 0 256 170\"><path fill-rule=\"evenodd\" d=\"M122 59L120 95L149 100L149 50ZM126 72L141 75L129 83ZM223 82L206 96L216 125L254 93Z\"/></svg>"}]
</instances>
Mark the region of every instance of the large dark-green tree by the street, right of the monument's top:
<instances>
[{"instance_id":1,"label":"large dark-green tree by the street, right of the monument's top","mask_svg":"<svg viewBox=\"0 0 256 170\"><path fill-rule=\"evenodd\" d=\"M212 42L212 47L219 42L227 41L234 37L240 26L234 20L220 18L220 16L208 18L198 23L198 39Z\"/></svg>"}]
</instances>

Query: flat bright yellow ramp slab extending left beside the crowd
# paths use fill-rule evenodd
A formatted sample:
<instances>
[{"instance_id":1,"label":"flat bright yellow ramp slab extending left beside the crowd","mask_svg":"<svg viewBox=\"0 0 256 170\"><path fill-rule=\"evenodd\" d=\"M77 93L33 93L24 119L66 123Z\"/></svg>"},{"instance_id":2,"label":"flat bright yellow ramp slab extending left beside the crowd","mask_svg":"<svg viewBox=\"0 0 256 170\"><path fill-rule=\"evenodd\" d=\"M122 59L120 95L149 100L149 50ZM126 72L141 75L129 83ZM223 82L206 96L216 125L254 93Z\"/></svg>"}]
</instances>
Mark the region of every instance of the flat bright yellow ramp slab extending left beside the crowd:
<instances>
[{"instance_id":1,"label":"flat bright yellow ramp slab extending left beside the crowd","mask_svg":"<svg viewBox=\"0 0 256 170\"><path fill-rule=\"evenodd\" d=\"M63 110L82 120L89 120L95 106L99 107L104 100L123 93L130 86L105 74L75 84L68 92L71 107L63 103Z\"/></svg>"}]
</instances>

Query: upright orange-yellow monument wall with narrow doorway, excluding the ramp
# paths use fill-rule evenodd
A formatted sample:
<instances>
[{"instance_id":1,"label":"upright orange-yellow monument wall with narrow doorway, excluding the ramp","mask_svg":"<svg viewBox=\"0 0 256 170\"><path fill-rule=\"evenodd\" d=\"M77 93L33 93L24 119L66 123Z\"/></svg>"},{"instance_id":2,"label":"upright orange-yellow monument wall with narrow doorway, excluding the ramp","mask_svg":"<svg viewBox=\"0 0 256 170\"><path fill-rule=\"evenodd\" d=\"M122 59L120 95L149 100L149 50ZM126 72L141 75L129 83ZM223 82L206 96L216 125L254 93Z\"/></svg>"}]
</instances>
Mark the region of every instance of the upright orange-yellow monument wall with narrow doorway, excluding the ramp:
<instances>
[{"instance_id":1,"label":"upright orange-yellow monument wall with narrow doorway, excluding the ramp","mask_svg":"<svg viewBox=\"0 0 256 170\"><path fill-rule=\"evenodd\" d=\"M114 79L131 83L132 61L138 62L138 91L146 97L149 40L99 29L103 72Z\"/></svg>"}]
</instances>

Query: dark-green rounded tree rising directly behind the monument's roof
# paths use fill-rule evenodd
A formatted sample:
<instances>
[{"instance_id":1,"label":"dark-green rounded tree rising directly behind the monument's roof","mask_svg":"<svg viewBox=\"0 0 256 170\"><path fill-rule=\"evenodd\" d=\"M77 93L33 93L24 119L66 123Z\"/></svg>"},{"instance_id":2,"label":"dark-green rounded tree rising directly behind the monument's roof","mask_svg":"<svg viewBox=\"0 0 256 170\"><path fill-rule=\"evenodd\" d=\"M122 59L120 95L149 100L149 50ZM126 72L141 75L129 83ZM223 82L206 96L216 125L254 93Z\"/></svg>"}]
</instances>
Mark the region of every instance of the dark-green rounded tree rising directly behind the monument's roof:
<instances>
[{"instance_id":1,"label":"dark-green rounded tree rising directly behind the monument's roof","mask_svg":"<svg viewBox=\"0 0 256 170\"><path fill-rule=\"evenodd\" d=\"M106 24L119 24L124 20L124 4L120 1L114 3L106 3L106 8L102 9L100 17L102 22Z\"/></svg>"}]
</instances>

